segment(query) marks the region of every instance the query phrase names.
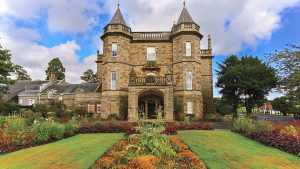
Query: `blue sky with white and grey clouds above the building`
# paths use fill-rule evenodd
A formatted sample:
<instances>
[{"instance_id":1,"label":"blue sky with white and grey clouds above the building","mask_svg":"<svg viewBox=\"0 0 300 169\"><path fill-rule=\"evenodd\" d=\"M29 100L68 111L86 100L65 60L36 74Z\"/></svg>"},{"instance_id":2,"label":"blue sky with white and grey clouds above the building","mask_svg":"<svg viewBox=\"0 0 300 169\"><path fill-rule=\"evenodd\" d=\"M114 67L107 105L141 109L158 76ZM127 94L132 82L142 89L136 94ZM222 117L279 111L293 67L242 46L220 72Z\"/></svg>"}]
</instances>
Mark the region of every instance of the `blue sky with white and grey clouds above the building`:
<instances>
[{"instance_id":1,"label":"blue sky with white and grey clouds above the building","mask_svg":"<svg viewBox=\"0 0 300 169\"><path fill-rule=\"evenodd\" d=\"M183 0L120 0L133 31L168 31ZM0 0L0 43L33 79L44 79L49 60L59 57L66 79L95 70L100 36L117 0ZM187 8L205 36L213 38L214 69L230 54L264 53L300 44L300 0L187 0ZM214 77L215 78L215 77ZM218 90L215 89L215 96ZM273 93L269 98L276 97Z\"/></svg>"}]
</instances>

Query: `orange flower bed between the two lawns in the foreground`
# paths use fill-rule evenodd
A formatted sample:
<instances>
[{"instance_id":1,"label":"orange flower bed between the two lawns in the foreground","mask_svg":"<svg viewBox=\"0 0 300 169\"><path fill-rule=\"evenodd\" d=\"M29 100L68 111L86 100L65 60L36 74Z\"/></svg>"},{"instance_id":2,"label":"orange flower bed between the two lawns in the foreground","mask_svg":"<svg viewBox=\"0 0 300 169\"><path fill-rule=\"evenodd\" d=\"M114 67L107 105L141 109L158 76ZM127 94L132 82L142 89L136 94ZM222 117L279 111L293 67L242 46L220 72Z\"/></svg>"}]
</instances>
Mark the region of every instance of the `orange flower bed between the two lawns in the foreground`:
<instances>
[{"instance_id":1,"label":"orange flower bed between the two lawns in the foreground","mask_svg":"<svg viewBox=\"0 0 300 169\"><path fill-rule=\"evenodd\" d=\"M205 169L206 166L188 146L176 136L168 139L172 149L176 152L174 157L156 157L154 155L143 155L132 157L126 150L131 149L132 145L127 140L122 140L115 144L110 151L98 159L94 164L94 169L116 168L116 169L155 169L155 168L180 168L180 169ZM125 151L124 151L125 150Z\"/></svg>"}]
</instances>

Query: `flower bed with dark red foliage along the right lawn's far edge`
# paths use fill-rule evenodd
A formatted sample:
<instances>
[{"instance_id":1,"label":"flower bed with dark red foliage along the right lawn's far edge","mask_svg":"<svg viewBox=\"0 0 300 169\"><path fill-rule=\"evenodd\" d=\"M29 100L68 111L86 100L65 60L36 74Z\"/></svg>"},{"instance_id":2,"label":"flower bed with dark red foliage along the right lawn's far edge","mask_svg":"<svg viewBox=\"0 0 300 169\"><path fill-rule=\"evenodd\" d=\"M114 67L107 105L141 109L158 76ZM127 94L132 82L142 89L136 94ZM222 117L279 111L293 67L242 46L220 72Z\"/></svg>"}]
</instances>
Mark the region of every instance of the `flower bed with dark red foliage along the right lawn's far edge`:
<instances>
[{"instance_id":1,"label":"flower bed with dark red foliage along the right lawn's far edge","mask_svg":"<svg viewBox=\"0 0 300 169\"><path fill-rule=\"evenodd\" d=\"M264 145L300 156L300 121L254 123L244 119L234 123L233 131Z\"/></svg>"}]
</instances>

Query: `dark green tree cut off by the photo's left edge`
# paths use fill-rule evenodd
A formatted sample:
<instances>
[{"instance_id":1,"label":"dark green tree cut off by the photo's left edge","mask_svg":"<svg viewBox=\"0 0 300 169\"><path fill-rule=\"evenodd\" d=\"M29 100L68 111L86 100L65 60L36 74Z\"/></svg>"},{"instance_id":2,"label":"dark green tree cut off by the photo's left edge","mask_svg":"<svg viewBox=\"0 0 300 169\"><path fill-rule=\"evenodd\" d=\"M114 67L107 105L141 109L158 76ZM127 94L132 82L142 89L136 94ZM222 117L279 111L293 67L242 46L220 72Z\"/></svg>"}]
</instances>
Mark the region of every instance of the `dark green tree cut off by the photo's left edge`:
<instances>
[{"instance_id":1,"label":"dark green tree cut off by the photo's left edge","mask_svg":"<svg viewBox=\"0 0 300 169\"><path fill-rule=\"evenodd\" d=\"M13 80L10 78L13 71L10 50L2 49L0 45L0 97L7 92L8 85L13 83Z\"/></svg>"}]
</instances>

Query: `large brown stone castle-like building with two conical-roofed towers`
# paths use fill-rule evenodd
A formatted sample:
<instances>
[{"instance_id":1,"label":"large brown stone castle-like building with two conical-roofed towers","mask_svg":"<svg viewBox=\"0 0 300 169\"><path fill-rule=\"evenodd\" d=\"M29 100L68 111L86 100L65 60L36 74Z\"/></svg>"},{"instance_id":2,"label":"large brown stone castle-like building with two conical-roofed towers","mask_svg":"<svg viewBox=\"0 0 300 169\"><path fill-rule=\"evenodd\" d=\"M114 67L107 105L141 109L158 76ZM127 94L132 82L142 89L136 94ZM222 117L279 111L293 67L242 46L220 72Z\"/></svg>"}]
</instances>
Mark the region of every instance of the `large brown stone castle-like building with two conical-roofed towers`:
<instances>
[{"instance_id":1,"label":"large brown stone castle-like building with two conical-roofed towers","mask_svg":"<svg viewBox=\"0 0 300 169\"><path fill-rule=\"evenodd\" d=\"M101 116L128 113L128 120L203 118L213 111L212 47L201 49L203 35L183 7L171 31L133 32L118 6L101 36L97 78Z\"/></svg>"}]
</instances>

